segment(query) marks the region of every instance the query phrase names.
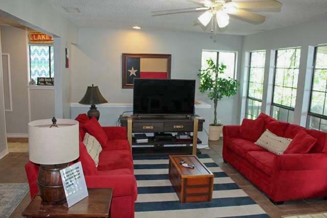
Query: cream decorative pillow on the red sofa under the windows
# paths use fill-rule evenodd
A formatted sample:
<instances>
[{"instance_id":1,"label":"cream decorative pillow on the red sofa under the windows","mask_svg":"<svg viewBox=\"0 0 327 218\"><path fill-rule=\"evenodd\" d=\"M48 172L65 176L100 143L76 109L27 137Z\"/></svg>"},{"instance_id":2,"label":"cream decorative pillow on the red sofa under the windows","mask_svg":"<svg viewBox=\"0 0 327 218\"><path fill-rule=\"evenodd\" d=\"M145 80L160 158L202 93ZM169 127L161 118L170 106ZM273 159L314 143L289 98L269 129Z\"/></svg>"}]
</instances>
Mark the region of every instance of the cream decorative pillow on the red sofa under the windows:
<instances>
[{"instance_id":1,"label":"cream decorative pillow on the red sofa under the windows","mask_svg":"<svg viewBox=\"0 0 327 218\"><path fill-rule=\"evenodd\" d=\"M292 139L276 136L267 129L254 143L274 154L281 155L287 149L291 141Z\"/></svg>"}]
</instances>

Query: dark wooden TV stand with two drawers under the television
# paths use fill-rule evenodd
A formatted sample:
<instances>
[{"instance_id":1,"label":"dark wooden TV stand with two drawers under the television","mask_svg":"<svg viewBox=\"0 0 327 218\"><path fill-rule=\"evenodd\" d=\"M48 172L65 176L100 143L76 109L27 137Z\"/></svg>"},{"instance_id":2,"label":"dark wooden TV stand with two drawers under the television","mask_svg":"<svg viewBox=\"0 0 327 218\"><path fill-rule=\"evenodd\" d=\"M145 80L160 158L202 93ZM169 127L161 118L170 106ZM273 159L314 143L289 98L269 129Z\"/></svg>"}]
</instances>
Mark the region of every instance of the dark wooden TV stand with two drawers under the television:
<instances>
[{"instance_id":1,"label":"dark wooden TV stand with two drawers under the television","mask_svg":"<svg viewBox=\"0 0 327 218\"><path fill-rule=\"evenodd\" d=\"M130 145L157 145L164 144L193 144L192 154L196 155L197 144L201 143L198 139L198 131L203 130L203 118L198 115L131 115L130 117L120 116L121 124L127 128L127 138ZM132 137L132 133L156 133L156 132L193 132L190 139L176 140L154 140L148 137L149 142L137 143Z\"/></svg>"}]
</instances>

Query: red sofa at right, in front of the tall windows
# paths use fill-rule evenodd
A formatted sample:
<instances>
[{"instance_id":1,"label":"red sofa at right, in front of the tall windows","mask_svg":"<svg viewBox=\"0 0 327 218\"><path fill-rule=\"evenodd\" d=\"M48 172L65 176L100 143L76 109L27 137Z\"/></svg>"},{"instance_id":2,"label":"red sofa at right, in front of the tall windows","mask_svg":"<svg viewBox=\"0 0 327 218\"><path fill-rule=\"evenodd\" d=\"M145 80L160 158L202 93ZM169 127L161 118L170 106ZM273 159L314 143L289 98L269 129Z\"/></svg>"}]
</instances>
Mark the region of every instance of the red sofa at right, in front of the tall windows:
<instances>
[{"instance_id":1,"label":"red sofa at right, in front of the tall windows","mask_svg":"<svg viewBox=\"0 0 327 218\"><path fill-rule=\"evenodd\" d=\"M299 130L305 130L317 141L306 154L275 155L254 144L254 140L242 138L241 126L224 126L224 161L259 187L276 204L287 200L326 197L327 133L277 122L264 113L259 118L264 119L264 128L259 135L270 122L274 122L269 131L278 136L293 139ZM252 134L258 135L258 131L252 131Z\"/></svg>"}]
</instances>

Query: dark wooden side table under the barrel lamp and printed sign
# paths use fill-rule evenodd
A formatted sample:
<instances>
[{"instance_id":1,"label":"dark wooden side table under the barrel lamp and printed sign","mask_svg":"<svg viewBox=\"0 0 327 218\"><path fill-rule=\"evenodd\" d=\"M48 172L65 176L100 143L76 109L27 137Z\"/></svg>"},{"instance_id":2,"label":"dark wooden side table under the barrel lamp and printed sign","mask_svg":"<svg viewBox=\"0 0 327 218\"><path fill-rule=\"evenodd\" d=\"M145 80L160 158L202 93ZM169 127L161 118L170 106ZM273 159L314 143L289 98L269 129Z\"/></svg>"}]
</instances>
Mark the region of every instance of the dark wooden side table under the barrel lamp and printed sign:
<instances>
[{"instance_id":1,"label":"dark wooden side table under the barrel lamp and printed sign","mask_svg":"<svg viewBox=\"0 0 327 218\"><path fill-rule=\"evenodd\" d=\"M70 208L64 205L43 205L35 196L22 216L33 217L110 217L112 188L88 188L88 197Z\"/></svg>"}]
</instances>

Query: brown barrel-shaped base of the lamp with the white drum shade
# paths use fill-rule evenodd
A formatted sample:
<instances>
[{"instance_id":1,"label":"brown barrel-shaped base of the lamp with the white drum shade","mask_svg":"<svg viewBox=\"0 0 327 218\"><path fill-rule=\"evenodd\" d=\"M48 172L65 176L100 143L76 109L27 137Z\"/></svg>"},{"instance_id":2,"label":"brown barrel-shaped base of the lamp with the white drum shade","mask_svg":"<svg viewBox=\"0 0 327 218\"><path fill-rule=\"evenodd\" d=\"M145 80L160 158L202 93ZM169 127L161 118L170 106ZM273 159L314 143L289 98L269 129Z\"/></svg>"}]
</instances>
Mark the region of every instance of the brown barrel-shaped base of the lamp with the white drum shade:
<instances>
[{"instance_id":1,"label":"brown barrel-shaped base of the lamp with the white drum shade","mask_svg":"<svg viewBox=\"0 0 327 218\"><path fill-rule=\"evenodd\" d=\"M64 204L65 190L62 185L60 169L66 168L69 163L55 165L40 165L37 178L39 195L45 204Z\"/></svg>"}]
</instances>

